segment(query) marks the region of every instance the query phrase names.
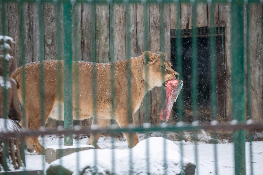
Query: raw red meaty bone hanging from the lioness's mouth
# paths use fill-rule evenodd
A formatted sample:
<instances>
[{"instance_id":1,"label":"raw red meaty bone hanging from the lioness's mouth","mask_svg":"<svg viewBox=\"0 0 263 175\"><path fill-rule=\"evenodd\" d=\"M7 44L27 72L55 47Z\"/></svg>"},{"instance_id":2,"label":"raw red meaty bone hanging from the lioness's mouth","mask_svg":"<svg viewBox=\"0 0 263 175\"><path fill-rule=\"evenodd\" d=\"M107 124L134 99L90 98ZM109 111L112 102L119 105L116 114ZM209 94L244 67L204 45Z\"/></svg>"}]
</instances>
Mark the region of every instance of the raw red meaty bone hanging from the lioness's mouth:
<instances>
[{"instance_id":1,"label":"raw red meaty bone hanging from the lioness's mouth","mask_svg":"<svg viewBox=\"0 0 263 175\"><path fill-rule=\"evenodd\" d=\"M182 87L183 81L178 79L172 79L164 83L166 87L166 99L163 109L161 110L160 119L167 121L169 119L173 104L177 99Z\"/></svg>"}]
</instances>

